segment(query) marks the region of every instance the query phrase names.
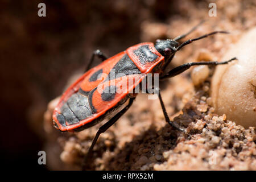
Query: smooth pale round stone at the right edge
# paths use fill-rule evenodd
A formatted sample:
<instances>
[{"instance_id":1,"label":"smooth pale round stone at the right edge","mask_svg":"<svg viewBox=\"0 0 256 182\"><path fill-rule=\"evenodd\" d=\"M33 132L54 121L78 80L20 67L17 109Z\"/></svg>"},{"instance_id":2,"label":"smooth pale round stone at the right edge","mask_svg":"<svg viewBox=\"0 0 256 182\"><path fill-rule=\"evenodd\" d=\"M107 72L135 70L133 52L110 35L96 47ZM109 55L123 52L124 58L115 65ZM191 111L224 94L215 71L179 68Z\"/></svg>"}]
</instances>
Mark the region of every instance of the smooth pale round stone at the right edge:
<instances>
[{"instance_id":1,"label":"smooth pale round stone at the right edge","mask_svg":"<svg viewBox=\"0 0 256 182\"><path fill-rule=\"evenodd\" d=\"M211 96L215 112L244 127L256 126L256 27L233 45L222 61L237 57L228 65L219 65L212 80Z\"/></svg>"}]
</instances>

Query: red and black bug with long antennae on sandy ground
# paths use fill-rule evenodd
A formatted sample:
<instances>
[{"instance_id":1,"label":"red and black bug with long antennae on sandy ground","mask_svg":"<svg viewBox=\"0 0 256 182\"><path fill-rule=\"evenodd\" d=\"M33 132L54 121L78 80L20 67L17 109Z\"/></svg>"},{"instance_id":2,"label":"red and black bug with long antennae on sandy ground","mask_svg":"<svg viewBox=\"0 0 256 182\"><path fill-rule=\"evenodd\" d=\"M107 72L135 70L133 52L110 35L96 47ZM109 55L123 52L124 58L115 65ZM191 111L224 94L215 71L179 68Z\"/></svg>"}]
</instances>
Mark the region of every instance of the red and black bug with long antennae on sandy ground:
<instances>
[{"instance_id":1,"label":"red and black bug with long antennae on sandy ground","mask_svg":"<svg viewBox=\"0 0 256 182\"><path fill-rule=\"evenodd\" d=\"M170 64L175 53L185 45L209 35L228 33L225 31L214 31L196 39L189 39L181 44L177 42L177 40L184 38L195 30L196 27L192 28L187 34L178 36L175 39L156 40L155 44L137 44L109 59L101 51L94 51L84 75L69 86L53 111L54 126L61 131L84 130L108 117L112 111L120 109L127 101L128 104L121 111L100 127L90 146L89 155L100 134L112 126L129 109L131 104L133 104L137 94L134 94L132 91L147 77L148 73L159 73L159 78L164 79L174 77L193 65L227 64L229 61L236 59L234 57L221 63L217 61L187 63L165 72L167 65ZM89 69L95 55L100 57L103 62ZM114 72L114 78L110 77L111 72ZM122 76L117 76L118 74ZM130 80L136 81L132 85L129 85L128 82ZM122 92L118 92L118 90L122 89L121 85L127 85L127 88L126 90L122 90ZM103 92L99 92L98 88L102 88ZM114 90L114 92L110 92L110 90ZM170 121L167 115L160 90L155 88L155 91L158 93L166 122L175 129L179 129L178 126Z\"/></svg>"}]
</instances>

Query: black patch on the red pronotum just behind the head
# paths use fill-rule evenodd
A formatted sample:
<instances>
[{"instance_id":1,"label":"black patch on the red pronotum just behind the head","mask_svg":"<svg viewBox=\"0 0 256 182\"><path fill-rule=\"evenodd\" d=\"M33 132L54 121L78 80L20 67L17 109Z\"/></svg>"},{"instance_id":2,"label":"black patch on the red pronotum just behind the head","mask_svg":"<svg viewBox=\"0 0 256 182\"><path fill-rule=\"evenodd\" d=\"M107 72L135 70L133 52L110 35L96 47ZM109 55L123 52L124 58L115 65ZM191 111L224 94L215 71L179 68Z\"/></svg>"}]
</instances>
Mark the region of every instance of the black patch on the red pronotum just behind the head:
<instances>
[{"instance_id":1,"label":"black patch on the red pronotum just behind the head","mask_svg":"<svg viewBox=\"0 0 256 182\"><path fill-rule=\"evenodd\" d=\"M148 45L144 45L135 49L134 54L139 57L141 64L146 64L148 62L155 61L158 58L158 55L155 55L150 51Z\"/></svg>"}]
</instances>

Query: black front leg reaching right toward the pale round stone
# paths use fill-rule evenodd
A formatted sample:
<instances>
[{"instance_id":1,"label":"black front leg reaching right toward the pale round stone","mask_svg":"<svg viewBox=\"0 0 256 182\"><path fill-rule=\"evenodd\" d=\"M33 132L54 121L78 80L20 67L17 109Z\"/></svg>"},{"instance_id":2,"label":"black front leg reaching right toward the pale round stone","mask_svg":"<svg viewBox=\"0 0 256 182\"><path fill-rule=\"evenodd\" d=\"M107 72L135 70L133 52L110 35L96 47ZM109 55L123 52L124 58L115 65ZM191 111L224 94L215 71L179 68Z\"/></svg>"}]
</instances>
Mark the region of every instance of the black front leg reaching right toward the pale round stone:
<instances>
[{"instance_id":1,"label":"black front leg reaching right toward the pale round stone","mask_svg":"<svg viewBox=\"0 0 256 182\"><path fill-rule=\"evenodd\" d=\"M218 65L218 64L228 64L230 61L236 60L236 57L233 57L232 59L228 60L228 61L224 61L224 62L217 62L217 61L208 61L208 62L196 62L196 63L185 63L183 65L180 65L179 67L176 67L174 69L171 69L170 72L166 73L166 75L160 77L160 79L164 79L164 78L171 78L174 77L176 75L179 75L180 73L186 71L187 69L189 69L190 67L194 66L194 65Z\"/></svg>"}]
</instances>

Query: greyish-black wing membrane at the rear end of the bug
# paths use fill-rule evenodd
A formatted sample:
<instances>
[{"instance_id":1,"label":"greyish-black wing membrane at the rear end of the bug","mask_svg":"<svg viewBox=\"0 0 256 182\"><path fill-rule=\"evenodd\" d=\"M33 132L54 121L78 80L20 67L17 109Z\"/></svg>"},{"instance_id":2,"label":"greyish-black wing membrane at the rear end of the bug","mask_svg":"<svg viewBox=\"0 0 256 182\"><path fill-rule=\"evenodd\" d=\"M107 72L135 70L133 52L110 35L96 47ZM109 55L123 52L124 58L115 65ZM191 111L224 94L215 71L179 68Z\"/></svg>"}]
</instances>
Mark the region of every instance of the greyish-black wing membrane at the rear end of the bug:
<instances>
[{"instance_id":1,"label":"greyish-black wing membrane at the rear end of the bug","mask_svg":"<svg viewBox=\"0 0 256 182\"><path fill-rule=\"evenodd\" d=\"M88 103L88 97L75 93L69 97L68 101L60 109L61 114L57 114L57 119L61 125L73 125L92 115Z\"/></svg>"}]
</instances>

